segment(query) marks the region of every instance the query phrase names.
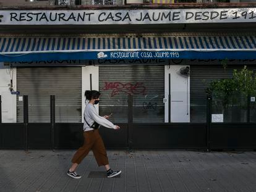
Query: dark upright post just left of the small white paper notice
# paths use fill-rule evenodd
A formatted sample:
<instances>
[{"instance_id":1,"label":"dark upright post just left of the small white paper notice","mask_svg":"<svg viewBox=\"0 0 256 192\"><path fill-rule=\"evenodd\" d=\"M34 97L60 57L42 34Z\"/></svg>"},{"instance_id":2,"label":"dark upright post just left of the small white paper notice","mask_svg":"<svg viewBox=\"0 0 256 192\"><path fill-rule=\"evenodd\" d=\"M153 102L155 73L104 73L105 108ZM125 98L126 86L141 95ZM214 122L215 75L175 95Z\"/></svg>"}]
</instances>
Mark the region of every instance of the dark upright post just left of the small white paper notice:
<instances>
[{"instance_id":1,"label":"dark upright post just left of the small white paper notice","mask_svg":"<svg viewBox=\"0 0 256 192\"><path fill-rule=\"evenodd\" d=\"M211 151L211 96L207 96L207 151Z\"/></svg>"}]
</instances>

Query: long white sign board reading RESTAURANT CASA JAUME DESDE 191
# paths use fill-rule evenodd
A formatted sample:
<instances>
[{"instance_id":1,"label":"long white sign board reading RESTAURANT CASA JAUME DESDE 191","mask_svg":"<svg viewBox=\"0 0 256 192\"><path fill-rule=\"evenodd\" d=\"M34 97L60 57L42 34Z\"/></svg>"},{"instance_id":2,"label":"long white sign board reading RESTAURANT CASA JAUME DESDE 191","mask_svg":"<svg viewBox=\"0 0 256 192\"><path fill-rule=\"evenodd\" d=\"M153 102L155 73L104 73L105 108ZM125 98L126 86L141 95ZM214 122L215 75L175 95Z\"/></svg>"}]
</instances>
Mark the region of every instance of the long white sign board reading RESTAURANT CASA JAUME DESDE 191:
<instances>
[{"instance_id":1,"label":"long white sign board reading RESTAURANT CASA JAUME DESDE 191","mask_svg":"<svg viewBox=\"0 0 256 192\"><path fill-rule=\"evenodd\" d=\"M256 8L0 10L0 25L127 25L256 22Z\"/></svg>"}]
</instances>

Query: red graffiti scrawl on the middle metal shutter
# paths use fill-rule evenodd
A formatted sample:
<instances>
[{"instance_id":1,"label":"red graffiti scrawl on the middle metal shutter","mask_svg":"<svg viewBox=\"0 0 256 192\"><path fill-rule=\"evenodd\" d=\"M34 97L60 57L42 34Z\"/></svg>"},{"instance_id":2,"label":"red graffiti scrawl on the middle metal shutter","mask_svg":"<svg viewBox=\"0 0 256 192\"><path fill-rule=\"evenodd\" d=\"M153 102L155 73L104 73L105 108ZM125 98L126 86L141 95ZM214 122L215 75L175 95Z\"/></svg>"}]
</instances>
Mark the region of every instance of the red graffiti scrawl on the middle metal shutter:
<instances>
[{"instance_id":1,"label":"red graffiti scrawl on the middle metal shutter","mask_svg":"<svg viewBox=\"0 0 256 192\"><path fill-rule=\"evenodd\" d=\"M143 86L143 83L135 83L135 85L132 85L132 83L105 82L105 88L103 90L112 90L111 97L119 94L119 92L143 95L145 95L146 92L146 88Z\"/></svg>"}]
</instances>

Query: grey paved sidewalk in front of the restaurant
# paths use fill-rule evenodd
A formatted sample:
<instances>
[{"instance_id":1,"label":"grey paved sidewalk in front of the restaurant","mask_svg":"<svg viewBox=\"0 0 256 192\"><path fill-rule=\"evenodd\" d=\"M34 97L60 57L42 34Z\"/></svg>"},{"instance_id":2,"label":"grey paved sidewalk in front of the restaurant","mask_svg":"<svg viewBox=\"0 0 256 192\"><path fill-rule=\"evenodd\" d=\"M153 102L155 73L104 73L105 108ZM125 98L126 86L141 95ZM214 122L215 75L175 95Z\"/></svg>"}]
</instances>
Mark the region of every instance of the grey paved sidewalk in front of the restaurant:
<instances>
[{"instance_id":1,"label":"grey paved sidewalk in front of the restaurant","mask_svg":"<svg viewBox=\"0 0 256 192\"><path fill-rule=\"evenodd\" d=\"M90 152L77 180L66 175L74 152L1 150L0 191L256 191L256 152L108 151L119 178L102 178Z\"/></svg>"}]
</instances>

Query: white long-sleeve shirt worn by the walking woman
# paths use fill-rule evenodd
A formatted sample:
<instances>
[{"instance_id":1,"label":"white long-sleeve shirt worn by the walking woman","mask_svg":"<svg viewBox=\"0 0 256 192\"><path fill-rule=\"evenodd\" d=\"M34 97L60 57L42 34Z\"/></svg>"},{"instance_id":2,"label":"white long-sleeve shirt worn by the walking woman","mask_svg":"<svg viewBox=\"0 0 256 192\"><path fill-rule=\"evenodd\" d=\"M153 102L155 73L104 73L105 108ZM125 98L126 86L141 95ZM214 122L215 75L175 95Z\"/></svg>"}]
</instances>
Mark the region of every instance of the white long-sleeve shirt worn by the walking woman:
<instances>
[{"instance_id":1,"label":"white long-sleeve shirt worn by the walking woman","mask_svg":"<svg viewBox=\"0 0 256 192\"><path fill-rule=\"evenodd\" d=\"M116 128L116 125L114 125L113 123L109 122L109 120L105 119L104 117L101 117L100 115L98 115L95 107L93 106L93 104L91 104L90 102L88 102L85 106L85 112L83 113L85 120L87 121L87 123L92 126L92 124L94 122L99 123L100 125L104 126L104 127L108 127L108 128ZM87 123L85 122L85 120L83 120L83 131L90 131L93 130L93 128L90 128Z\"/></svg>"}]
</instances>

